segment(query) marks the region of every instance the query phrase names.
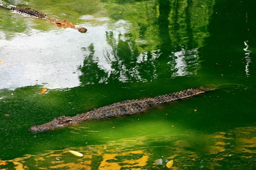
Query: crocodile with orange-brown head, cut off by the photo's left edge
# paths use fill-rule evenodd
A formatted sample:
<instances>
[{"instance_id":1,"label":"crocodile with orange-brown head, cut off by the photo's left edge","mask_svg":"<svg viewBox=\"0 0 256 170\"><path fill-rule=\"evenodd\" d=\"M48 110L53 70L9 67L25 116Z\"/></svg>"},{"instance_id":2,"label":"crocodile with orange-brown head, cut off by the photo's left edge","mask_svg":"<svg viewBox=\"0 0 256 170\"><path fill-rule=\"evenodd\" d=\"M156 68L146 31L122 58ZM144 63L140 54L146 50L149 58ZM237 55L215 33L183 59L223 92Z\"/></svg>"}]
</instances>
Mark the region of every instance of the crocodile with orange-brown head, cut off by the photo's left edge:
<instances>
[{"instance_id":1,"label":"crocodile with orange-brown head, cut off by the photo's left edge","mask_svg":"<svg viewBox=\"0 0 256 170\"><path fill-rule=\"evenodd\" d=\"M20 14L26 15L26 16L31 16L31 17L35 17L35 18L43 18L43 19L47 18L46 14L44 14L40 11L36 11L35 9L30 9L30 8L25 8L25 7L16 7L14 5L9 5L5 2L2 2L1 0L0 0L0 7L11 9L11 10L15 11L16 13L20 13ZM50 18L48 20L49 20L49 22L56 24L58 27L76 29L81 33L87 32L86 28L76 27L74 24L72 24L72 22L69 22L68 20L61 21L61 20L56 20L56 19L52 19L52 18Z\"/></svg>"}]
</instances>

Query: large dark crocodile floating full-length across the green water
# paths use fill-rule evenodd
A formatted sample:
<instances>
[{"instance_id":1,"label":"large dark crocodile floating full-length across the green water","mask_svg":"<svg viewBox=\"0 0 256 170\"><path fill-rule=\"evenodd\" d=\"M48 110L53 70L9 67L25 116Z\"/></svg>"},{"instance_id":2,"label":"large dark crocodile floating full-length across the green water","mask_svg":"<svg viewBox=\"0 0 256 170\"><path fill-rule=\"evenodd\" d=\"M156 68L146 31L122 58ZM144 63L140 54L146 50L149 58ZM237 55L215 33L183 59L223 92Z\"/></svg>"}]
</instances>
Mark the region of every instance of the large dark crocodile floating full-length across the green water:
<instances>
[{"instance_id":1,"label":"large dark crocodile floating full-length across the green water","mask_svg":"<svg viewBox=\"0 0 256 170\"><path fill-rule=\"evenodd\" d=\"M117 102L114 104L110 104L108 106L94 108L91 111L88 111L82 114L77 114L73 117L61 116L58 118L54 118L52 121L48 123L38 125L38 126L36 125L31 126L29 128L29 131L42 132L42 131L52 130L55 128L71 126L74 124L81 123L82 121L87 121L91 119L101 119L101 118L114 117L119 115L131 115L135 113L141 113L141 112L144 112L146 109L155 105L174 102L187 97L193 97L195 95L199 95L201 93L205 93L211 90L213 90L213 88L212 89L206 88L206 87L191 88L188 90L184 90L176 93L170 93L167 95L161 95L153 98L125 100L123 102Z\"/></svg>"}]
</instances>

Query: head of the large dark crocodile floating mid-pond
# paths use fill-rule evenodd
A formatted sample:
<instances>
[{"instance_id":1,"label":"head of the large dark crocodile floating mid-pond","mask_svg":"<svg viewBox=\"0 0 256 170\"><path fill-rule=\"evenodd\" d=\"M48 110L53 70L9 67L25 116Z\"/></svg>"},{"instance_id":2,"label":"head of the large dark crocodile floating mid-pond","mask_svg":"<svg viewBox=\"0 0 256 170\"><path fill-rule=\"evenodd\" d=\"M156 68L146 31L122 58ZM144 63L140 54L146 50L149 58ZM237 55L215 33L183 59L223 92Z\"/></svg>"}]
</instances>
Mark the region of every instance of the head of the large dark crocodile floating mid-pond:
<instances>
[{"instance_id":1,"label":"head of the large dark crocodile floating mid-pond","mask_svg":"<svg viewBox=\"0 0 256 170\"><path fill-rule=\"evenodd\" d=\"M52 121L46 123L46 124L42 124L42 125L33 125L29 128L29 131L31 132L42 132L42 131L46 131L46 130L51 130L51 129L55 129L55 128L61 128L61 127L65 127L65 126L70 126L72 124L75 124L76 122L74 122L71 117L66 117L66 116L61 116L58 118L54 118Z\"/></svg>"}]
</instances>

